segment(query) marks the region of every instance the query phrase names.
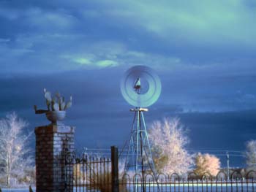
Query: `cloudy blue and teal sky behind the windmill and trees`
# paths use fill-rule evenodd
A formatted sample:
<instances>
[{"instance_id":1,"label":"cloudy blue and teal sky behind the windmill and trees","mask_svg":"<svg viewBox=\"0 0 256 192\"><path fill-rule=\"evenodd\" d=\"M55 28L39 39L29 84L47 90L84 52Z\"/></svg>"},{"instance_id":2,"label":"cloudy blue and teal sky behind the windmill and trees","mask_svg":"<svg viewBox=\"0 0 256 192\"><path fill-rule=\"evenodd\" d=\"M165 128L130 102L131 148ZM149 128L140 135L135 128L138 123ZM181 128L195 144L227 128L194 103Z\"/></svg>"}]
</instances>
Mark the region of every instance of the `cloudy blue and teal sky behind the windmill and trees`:
<instances>
[{"instance_id":1,"label":"cloudy blue and teal sky behind the windmill and trees","mask_svg":"<svg viewBox=\"0 0 256 192\"><path fill-rule=\"evenodd\" d=\"M33 131L48 123L33 111L43 88L60 91L77 147L121 148L132 113L120 80L146 65L162 82L148 127L178 117L188 150L243 151L256 139L255 20L252 0L0 0L0 117L15 111Z\"/></svg>"}]
</instances>

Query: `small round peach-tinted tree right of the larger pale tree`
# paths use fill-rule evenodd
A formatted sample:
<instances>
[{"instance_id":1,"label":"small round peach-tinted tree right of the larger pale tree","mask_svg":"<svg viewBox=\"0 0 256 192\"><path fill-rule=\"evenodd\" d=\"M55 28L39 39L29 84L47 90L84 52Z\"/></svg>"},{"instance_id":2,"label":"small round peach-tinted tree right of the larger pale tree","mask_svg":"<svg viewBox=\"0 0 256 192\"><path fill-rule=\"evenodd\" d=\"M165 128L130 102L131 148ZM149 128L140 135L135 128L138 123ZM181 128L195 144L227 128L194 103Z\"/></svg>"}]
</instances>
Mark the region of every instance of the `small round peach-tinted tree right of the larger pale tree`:
<instances>
[{"instance_id":1,"label":"small round peach-tinted tree right of the larger pale tree","mask_svg":"<svg viewBox=\"0 0 256 192\"><path fill-rule=\"evenodd\" d=\"M200 177L208 174L215 177L219 172L220 161L215 155L198 153L195 158L195 166L195 173Z\"/></svg>"}]
</instances>

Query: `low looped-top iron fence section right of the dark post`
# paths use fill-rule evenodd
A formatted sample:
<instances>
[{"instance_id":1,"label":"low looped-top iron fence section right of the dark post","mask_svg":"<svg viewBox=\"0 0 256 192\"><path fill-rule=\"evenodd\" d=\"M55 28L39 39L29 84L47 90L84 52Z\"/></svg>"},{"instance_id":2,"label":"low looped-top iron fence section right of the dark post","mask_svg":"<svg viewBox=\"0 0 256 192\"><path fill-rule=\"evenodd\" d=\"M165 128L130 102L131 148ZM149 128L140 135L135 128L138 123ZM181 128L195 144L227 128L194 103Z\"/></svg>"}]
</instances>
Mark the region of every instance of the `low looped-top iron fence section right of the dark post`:
<instances>
[{"instance_id":1,"label":"low looped-top iron fence section right of the dark post","mask_svg":"<svg viewBox=\"0 0 256 192\"><path fill-rule=\"evenodd\" d=\"M157 180L155 180L155 177L152 174L147 174L146 177L144 177L144 179L141 177L140 174L136 174L133 177L130 177L129 174L127 174L120 181L119 185L123 186L122 189L124 189L124 191L129 191L129 192L130 191L136 191L136 192L244 191L246 192L246 191L256 190L256 180L255 180L256 173L255 172L249 172L248 174L246 174L245 178L235 177L235 175L233 175L233 178L231 180L228 180L227 177L225 177L225 179L223 177L220 177L220 174L223 174L223 172L219 172L219 174L217 174L216 177L211 177L210 174L204 174L203 176L198 176L194 172L190 173L188 177L182 177L176 173L171 175L158 174Z\"/></svg>"}]
</instances>

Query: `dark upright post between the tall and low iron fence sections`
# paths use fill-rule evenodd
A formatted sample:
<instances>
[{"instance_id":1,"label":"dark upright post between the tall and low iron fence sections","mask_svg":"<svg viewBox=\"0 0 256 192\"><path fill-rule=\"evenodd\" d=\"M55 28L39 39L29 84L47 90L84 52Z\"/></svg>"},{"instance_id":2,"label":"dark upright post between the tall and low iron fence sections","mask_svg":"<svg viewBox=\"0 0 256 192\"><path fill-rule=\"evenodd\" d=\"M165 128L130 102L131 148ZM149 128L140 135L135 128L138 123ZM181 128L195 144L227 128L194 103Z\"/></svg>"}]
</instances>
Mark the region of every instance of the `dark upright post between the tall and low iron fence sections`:
<instances>
[{"instance_id":1,"label":"dark upright post between the tall and low iron fence sections","mask_svg":"<svg viewBox=\"0 0 256 192\"><path fill-rule=\"evenodd\" d=\"M118 192L118 148L111 146L112 192Z\"/></svg>"}]
</instances>

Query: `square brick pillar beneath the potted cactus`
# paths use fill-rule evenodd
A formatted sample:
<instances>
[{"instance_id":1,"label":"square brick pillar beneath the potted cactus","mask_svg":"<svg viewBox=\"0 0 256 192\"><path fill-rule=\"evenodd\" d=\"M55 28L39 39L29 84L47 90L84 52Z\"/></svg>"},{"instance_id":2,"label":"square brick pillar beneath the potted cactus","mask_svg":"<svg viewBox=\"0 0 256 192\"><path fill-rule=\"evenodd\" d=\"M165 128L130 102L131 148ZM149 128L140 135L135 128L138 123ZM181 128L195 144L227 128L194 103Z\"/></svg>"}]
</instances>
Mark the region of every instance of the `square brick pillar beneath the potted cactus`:
<instances>
[{"instance_id":1,"label":"square brick pillar beneath the potted cactus","mask_svg":"<svg viewBox=\"0 0 256 192\"><path fill-rule=\"evenodd\" d=\"M65 166L65 151L74 150L75 128L50 124L39 126L36 134L37 192L71 192L72 167ZM68 177L68 178L67 178ZM66 182L66 181L67 182Z\"/></svg>"}]
</instances>

